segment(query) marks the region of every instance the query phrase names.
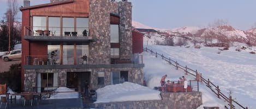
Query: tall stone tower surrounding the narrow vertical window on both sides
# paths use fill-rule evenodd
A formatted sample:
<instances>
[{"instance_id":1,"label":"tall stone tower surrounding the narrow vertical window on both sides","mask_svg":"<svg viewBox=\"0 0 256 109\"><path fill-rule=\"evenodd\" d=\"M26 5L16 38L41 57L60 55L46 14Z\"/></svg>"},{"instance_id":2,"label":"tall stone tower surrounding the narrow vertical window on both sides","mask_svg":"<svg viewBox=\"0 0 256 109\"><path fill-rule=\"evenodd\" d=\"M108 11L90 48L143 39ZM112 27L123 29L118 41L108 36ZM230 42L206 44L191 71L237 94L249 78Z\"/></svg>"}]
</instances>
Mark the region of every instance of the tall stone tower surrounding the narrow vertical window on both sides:
<instances>
[{"instance_id":1,"label":"tall stone tower surrounding the narrow vertical window on both sides","mask_svg":"<svg viewBox=\"0 0 256 109\"><path fill-rule=\"evenodd\" d=\"M89 27L96 40L89 47L90 63L110 63L110 13L120 16L120 59L132 56L132 3L90 0Z\"/></svg>"}]
</instances>

